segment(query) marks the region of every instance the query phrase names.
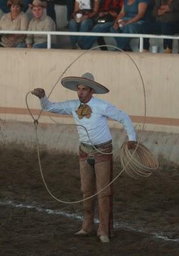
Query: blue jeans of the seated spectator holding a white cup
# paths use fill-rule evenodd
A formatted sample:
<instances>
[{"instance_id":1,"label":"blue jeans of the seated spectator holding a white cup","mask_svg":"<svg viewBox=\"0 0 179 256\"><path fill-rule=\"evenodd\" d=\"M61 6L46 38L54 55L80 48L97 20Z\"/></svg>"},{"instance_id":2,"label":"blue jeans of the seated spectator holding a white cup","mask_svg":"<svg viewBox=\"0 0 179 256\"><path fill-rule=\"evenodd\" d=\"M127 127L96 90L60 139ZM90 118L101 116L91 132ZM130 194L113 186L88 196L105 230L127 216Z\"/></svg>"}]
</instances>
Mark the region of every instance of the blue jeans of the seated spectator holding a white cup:
<instances>
[{"instance_id":1,"label":"blue jeans of the seated spectator holding a white cup","mask_svg":"<svg viewBox=\"0 0 179 256\"><path fill-rule=\"evenodd\" d=\"M77 23L74 19L71 19L69 21L69 31L71 32L88 32L92 29L93 26L93 20L87 19L82 20L82 22ZM74 47L76 43L78 43L80 40L82 40L83 36L71 36L71 45Z\"/></svg>"}]
</instances>

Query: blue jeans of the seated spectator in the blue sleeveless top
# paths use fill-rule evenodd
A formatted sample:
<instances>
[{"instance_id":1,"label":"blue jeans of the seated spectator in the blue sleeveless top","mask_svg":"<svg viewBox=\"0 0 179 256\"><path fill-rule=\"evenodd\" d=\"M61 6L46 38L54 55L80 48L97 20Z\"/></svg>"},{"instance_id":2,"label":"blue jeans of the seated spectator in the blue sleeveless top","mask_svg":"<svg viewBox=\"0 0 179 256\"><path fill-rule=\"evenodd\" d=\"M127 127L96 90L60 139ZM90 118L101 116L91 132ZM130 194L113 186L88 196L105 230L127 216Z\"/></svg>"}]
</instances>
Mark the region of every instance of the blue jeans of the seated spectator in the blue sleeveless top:
<instances>
[{"instance_id":1,"label":"blue jeans of the seated spectator in the blue sleeveless top","mask_svg":"<svg viewBox=\"0 0 179 256\"><path fill-rule=\"evenodd\" d=\"M127 20L127 19L124 19ZM115 30L113 26L110 28L111 33L127 33L127 34L140 34L142 33L143 29L143 21L139 20L138 22L130 23L124 26L123 28L120 28L118 30ZM129 45L131 42L131 38L129 37L115 37L115 40L117 42L117 47L120 49L124 49Z\"/></svg>"}]
</instances>

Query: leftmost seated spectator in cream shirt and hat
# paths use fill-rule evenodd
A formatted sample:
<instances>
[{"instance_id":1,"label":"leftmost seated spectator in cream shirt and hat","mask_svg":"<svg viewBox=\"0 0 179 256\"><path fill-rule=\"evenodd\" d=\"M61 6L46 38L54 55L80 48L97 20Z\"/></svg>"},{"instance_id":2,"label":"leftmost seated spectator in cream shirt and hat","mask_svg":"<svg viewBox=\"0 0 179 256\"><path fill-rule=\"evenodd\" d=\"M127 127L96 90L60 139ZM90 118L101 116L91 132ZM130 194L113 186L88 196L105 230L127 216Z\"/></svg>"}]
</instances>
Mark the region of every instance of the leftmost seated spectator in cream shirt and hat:
<instances>
[{"instance_id":1,"label":"leftmost seated spectator in cream shirt and hat","mask_svg":"<svg viewBox=\"0 0 179 256\"><path fill-rule=\"evenodd\" d=\"M0 20L1 30L27 30L28 17L22 12L22 0L8 0L7 6L10 10L9 13L3 15ZM1 35L1 47L20 47L25 42L25 35Z\"/></svg>"}]
</instances>

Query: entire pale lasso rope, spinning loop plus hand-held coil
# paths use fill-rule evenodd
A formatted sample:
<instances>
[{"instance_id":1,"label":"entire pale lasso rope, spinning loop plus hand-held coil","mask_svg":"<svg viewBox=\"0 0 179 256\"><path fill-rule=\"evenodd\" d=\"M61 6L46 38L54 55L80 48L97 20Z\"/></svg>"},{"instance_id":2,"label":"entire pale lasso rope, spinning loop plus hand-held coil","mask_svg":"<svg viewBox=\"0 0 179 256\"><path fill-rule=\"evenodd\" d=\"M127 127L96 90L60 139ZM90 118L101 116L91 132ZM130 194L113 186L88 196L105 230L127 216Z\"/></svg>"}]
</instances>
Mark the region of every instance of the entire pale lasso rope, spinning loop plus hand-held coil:
<instances>
[{"instance_id":1,"label":"entire pale lasso rope, spinning loop plus hand-held coil","mask_svg":"<svg viewBox=\"0 0 179 256\"><path fill-rule=\"evenodd\" d=\"M48 94L48 98L50 97L50 95L52 94L55 86L57 86L57 84L61 80L62 76L64 76L66 71L77 60L79 60L84 54L86 54L89 51L93 51L93 50L95 50L95 49L97 49L99 47L111 47L113 49L117 49L118 51L124 52L124 51L122 51L122 49L119 49L118 47L115 47L113 45L99 45L99 46L96 46L96 47L92 47L91 49L89 49L89 50L87 50L85 52L82 52L82 54L80 54L74 61L72 61L71 64L68 65L68 67L64 70L64 72L62 72L61 76L59 77L59 79L57 79L57 82L54 84L54 86L52 87L52 90ZM124 54L129 57L129 59L132 61L132 63L134 64L134 66L138 70L138 73L140 74L140 79L141 79L141 83L142 83L142 86L143 86L143 95L144 95L144 122L143 122L143 126L142 126L142 129L141 129L141 132L140 132L140 136L139 136L138 142L136 142L136 146L135 147L132 147L132 149L128 150L127 144L124 143L121 148L118 148L117 150L113 150L113 152L110 152L110 153L104 153L104 152L101 152L101 150L99 150L98 148L96 148L92 144L92 141L90 140L89 133L88 133L87 129L83 125L76 125L75 124L76 126L81 126L81 127L83 127L85 129L85 131L87 132L87 136L88 136L88 138L90 140L90 143L91 143L92 147L94 149L96 149L97 152L99 152L101 154L113 154L114 152L119 150L120 161L121 161L121 164L122 164L122 167L123 167L122 171L120 173L118 173L118 175L113 180L111 180L111 182L108 185L106 185L103 189L101 189L100 191L98 191L94 195L89 196L89 197L87 197L85 199L77 200L77 201L71 201L71 202L63 201L63 200L57 198L56 196L54 196L51 193L50 189L48 189L48 186L47 186L47 183L45 181L45 178L44 178L44 175L43 175L43 171L42 171L42 168L41 168L41 161L40 161L40 156L39 156L39 140L38 140L38 124L39 124L39 122L38 122L38 120L39 120L39 118L41 116L42 110L39 112L38 118L37 119L34 118L34 116L31 113L31 109L29 108L29 105L27 103L27 96L32 91L31 92L27 92L27 94L25 96L25 102L26 102L26 105L27 105L27 109L28 109L29 114L31 115L32 119L34 120L34 127L35 127L35 133L36 133L36 146L37 146L39 170L41 172L41 177L42 177L43 183L45 185L45 188L47 189L47 191L50 194L50 196L52 196L52 198L54 198L58 202L61 202L63 204L77 204L77 203L80 203L80 202L84 202L85 200L88 200L90 198L93 198L94 196L96 196L99 193L101 193L104 189L108 188L108 186L110 186L122 174L122 172L124 172L124 170L127 173L127 175L131 176L134 179L138 179L140 177L148 177L149 175L152 174L152 172L154 172L154 170L157 170L157 168L159 167L159 163L158 163L157 159L155 159L155 157L153 156L152 152L150 152L145 146L143 146L140 143L141 136L143 134L143 130L144 130L144 127L145 127L145 119L146 119L146 95L145 95L145 86L144 86L144 82L143 82L143 77L141 76L141 72L140 72L140 70L138 68L138 65L132 59L132 57L129 54L127 54L127 52L124 52ZM58 124L58 122L56 122L50 115L49 115L49 118L51 120L53 120L56 124ZM73 124L71 124L71 125L73 125Z\"/></svg>"}]
</instances>

